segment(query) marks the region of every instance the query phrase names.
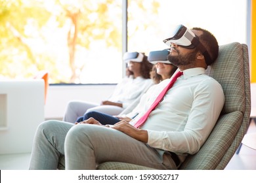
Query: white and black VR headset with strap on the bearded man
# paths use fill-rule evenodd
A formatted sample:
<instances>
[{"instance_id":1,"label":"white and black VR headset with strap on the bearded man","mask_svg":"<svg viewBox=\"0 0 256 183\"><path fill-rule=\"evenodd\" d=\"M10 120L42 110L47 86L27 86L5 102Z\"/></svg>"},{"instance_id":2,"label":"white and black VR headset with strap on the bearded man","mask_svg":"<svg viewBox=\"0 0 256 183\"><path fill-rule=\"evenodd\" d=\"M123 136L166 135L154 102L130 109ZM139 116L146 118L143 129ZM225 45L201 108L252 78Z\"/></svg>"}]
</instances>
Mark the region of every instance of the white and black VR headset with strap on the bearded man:
<instances>
[{"instance_id":1,"label":"white and black VR headset with strap on the bearded man","mask_svg":"<svg viewBox=\"0 0 256 183\"><path fill-rule=\"evenodd\" d=\"M200 52L202 52L205 62L207 65L210 65L212 63L212 59L209 56L209 53L201 44L199 38L188 28L186 28L184 25L178 25L173 29L171 37L163 40L167 46L171 47L171 44L178 44L181 47L193 49L198 48Z\"/></svg>"}]
</instances>

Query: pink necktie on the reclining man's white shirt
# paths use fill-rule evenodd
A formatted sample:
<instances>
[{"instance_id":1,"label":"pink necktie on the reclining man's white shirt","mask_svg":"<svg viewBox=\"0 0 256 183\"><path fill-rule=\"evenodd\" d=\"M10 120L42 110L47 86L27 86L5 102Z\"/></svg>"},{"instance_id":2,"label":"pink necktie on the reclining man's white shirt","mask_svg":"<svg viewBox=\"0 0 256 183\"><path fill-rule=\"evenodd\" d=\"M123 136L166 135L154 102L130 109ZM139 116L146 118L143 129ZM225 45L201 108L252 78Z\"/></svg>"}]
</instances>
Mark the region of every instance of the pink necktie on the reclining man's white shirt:
<instances>
[{"instance_id":1,"label":"pink necktie on the reclining man's white shirt","mask_svg":"<svg viewBox=\"0 0 256 183\"><path fill-rule=\"evenodd\" d=\"M173 78L171 79L169 84L167 86L165 86L165 88L163 88L163 91L161 91L161 93L158 95L158 97L156 98L154 103L151 105L151 107L148 109L148 111L136 122L136 124L134 125L135 127L140 127L142 124L144 124L144 122L146 122L146 119L148 118L150 112L152 112L152 110L154 110L156 108L156 106L163 99L163 96L165 95L165 93L173 86L173 84L175 83L177 78L179 78L179 76L181 76L182 74L183 73L181 71L179 71L178 73L176 73L175 76L173 76Z\"/></svg>"}]
</instances>

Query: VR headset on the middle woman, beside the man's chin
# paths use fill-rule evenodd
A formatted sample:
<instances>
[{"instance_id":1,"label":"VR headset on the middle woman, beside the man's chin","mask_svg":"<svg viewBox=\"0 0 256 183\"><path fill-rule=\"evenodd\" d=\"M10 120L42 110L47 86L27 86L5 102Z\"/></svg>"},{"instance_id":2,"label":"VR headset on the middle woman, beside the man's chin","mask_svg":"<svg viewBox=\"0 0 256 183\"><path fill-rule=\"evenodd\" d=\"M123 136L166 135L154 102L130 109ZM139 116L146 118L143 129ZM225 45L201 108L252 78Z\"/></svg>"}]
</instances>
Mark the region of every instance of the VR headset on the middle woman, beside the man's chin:
<instances>
[{"instance_id":1,"label":"VR headset on the middle woman, beside the man's chin","mask_svg":"<svg viewBox=\"0 0 256 183\"><path fill-rule=\"evenodd\" d=\"M158 62L171 64L171 62L169 62L167 59L169 52L169 49L152 51L148 54L148 61L150 61L152 64L156 64Z\"/></svg>"}]
</instances>

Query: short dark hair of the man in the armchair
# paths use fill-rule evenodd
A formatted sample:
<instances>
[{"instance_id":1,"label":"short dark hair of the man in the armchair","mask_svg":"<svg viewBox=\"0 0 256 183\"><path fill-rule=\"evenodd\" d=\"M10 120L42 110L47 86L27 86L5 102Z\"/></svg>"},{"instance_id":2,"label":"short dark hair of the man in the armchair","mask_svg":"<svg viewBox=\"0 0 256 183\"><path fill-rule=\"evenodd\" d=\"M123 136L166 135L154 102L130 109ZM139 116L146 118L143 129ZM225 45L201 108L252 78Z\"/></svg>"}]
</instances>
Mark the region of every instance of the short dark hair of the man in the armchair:
<instances>
[{"instance_id":1,"label":"short dark hair of the man in the armchair","mask_svg":"<svg viewBox=\"0 0 256 183\"><path fill-rule=\"evenodd\" d=\"M213 63L219 54L219 44L215 36L210 33L209 31L202 29L200 27L193 27L192 30L196 31L202 31L202 35L199 35L199 40L209 53L211 57L211 63ZM211 63L208 63L208 65L211 65Z\"/></svg>"}]
</instances>

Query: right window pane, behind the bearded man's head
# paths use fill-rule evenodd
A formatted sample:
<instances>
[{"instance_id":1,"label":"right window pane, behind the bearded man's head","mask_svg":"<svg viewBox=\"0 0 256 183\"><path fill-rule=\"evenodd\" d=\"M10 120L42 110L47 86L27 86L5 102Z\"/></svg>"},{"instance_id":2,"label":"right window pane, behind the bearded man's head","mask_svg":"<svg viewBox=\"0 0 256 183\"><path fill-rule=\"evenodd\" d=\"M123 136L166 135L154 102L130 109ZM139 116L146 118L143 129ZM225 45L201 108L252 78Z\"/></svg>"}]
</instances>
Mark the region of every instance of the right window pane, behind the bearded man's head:
<instances>
[{"instance_id":1,"label":"right window pane, behind the bearded man's head","mask_svg":"<svg viewBox=\"0 0 256 183\"><path fill-rule=\"evenodd\" d=\"M148 52L167 48L169 27L202 27L219 44L246 42L246 0L129 0L128 50Z\"/></svg>"}]
</instances>

